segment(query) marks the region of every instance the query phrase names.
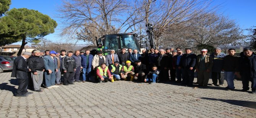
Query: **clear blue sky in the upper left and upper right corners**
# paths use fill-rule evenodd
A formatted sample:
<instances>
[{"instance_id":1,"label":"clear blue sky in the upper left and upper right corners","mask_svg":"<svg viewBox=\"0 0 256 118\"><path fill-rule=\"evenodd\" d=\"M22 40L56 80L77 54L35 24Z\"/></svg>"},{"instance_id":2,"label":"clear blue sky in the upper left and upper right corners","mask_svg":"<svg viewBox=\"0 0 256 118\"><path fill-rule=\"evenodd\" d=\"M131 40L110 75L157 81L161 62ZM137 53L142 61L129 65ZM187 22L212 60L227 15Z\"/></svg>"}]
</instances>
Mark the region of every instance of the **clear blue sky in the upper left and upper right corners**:
<instances>
[{"instance_id":1,"label":"clear blue sky in the upper left and upper right corners","mask_svg":"<svg viewBox=\"0 0 256 118\"><path fill-rule=\"evenodd\" d=\"M228 16L230 19L235 19L241 29L248 29L252 26L256 26L256 0L212 0L212 2L213 5L221 4L219 12L224 13L224 15ZM61 0L11 0L10 9L28 8L37 10L43 14L47 14L57 21L58 26L55 29L55 33L44 37L55 42L61 40L61 37L58 36L61 24L55 17L57 7L61 6L61 4ZM245 31L244 33L247 32ZM21 42L17 42L15 44L21 44ZM79 41L79 44L85 44L85 42Z\"/></svg>"}]
</instances>

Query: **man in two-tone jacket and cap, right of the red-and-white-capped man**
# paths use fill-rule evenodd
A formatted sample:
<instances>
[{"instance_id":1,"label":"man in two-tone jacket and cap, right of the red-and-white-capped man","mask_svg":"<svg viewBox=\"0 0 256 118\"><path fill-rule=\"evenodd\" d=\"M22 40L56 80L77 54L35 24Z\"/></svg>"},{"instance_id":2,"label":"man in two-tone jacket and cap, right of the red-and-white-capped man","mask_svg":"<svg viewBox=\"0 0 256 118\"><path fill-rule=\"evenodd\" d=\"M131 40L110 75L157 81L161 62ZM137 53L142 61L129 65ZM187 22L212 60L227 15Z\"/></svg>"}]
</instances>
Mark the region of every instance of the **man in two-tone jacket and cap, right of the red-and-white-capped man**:
<instances>
[{"instance_id":1,"label":"man in two-tone jacket and cap, right of the red-and-white-capped man","mask_svg":"<svg viewBox=\"0 0 256 118\"><path fill-rule=\"evenodd\" d=\"M214 49L214 53L210 55L213 59L213 66L212 66L212 86L223 86L224 84L224 72L223 69L223 62L224 57L226 54L221 53L221 49L219 47ZM219 85L217 85L219 80Z\"/></svg>"}]
</instances>

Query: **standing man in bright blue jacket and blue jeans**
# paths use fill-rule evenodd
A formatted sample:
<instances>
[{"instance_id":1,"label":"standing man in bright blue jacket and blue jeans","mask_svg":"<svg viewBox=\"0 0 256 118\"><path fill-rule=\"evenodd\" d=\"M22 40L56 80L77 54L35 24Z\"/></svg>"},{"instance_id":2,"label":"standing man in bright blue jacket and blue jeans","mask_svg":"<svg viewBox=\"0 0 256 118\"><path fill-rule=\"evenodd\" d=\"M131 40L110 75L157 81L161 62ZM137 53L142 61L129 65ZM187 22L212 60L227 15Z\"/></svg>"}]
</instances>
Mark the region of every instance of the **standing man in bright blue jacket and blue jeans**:
<instances>
[{"instance_id":1,"label":"standing man in bright blue jacket and blue jeans","mask_svg":"<svg viewBox=\"0 0 256 118\"><path fill-rule=\"evenodd\" d=\"M91 81L91 70L92 70L92 59L93 56L90 54L90 50L86 49L85 54L81 55L81 65L83 69L83 82Z\"/></svg>"}]
</instances>

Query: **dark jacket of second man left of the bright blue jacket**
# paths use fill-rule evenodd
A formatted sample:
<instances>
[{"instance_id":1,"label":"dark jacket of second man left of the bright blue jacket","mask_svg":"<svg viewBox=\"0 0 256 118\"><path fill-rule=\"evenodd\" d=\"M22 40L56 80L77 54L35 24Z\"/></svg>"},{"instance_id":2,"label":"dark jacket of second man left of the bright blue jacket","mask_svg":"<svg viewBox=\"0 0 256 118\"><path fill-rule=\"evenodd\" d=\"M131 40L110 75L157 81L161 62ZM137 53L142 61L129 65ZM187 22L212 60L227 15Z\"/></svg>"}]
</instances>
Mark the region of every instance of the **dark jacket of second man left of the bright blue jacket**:
<instances>
[{"instance_id":1,"label":"dark jacket of second man left of the bright blue jacket","mask_svg":"<svg viewBox=\"0 0 256 118\"><path fill-rule=\"evenodd\" d=\"M65 56L62 58L62 71L66 72L74 72L76 69L76 62L75 59L71 56Z\"/></svg>"}]
</instances>

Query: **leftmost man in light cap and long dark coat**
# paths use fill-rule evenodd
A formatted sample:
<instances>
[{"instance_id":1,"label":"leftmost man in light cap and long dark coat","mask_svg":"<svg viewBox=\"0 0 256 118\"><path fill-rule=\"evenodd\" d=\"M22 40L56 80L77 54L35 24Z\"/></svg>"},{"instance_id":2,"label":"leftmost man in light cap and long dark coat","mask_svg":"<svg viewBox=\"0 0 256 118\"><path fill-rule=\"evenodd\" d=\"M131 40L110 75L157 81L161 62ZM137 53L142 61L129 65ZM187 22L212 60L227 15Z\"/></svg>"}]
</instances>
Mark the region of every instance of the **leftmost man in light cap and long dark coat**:
<instances>
[{"instance_id":1,"label":"leftmost man in light cap and long dark coat","mask_svg":"<svg viewBox=\"0 0 256 118\"><path fill-rule=\"evenodd\" d=\"M28 92L28 64L26 60L31 56L31 53L24 52L21 56L18 56L13 63L13 70L11 77L16 77L18 79L19 87L16 92L16 97L26 97L32 92Z\"/></svg>"}]
</instances>

